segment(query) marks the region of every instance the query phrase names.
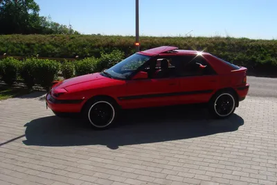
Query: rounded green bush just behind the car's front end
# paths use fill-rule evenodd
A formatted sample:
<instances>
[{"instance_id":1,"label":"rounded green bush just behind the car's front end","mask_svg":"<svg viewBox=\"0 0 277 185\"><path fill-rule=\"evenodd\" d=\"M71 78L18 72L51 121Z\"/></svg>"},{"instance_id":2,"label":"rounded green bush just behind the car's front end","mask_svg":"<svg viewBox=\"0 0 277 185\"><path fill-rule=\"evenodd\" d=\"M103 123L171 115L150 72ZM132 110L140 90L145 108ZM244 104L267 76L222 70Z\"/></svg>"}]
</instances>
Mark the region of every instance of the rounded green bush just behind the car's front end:
<instances>
[{"instance_id":1,"label":"rounded green bush just behind the car's front end","mask_svg":"<svg viewBox=\"0 0 277 185\"><path fill-rule=\"evenodd\" d=\"M57 79L61 64L55 60L39 59L35 63L35 82L48 91L52 86L52 82Z\"/></svg>"}]
</instances>

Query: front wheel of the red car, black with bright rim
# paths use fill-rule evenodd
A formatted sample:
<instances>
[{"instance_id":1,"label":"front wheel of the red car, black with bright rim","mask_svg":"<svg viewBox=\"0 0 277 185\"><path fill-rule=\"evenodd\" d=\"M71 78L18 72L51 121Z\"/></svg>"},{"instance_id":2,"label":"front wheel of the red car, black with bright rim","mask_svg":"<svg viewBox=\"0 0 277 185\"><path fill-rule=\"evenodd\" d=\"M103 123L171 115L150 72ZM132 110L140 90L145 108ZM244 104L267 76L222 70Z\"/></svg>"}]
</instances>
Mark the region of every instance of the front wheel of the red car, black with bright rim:
<instances>
[{"instance_id":1,"label":"front wheel of the red car, black with bright rim","mask_svg":"<svg viewBox=\"0 0 277 185\"><path fill-rule=\"evenodd\" d=\"M106 130L116 123L118 105L109 98L94 98L84 107L83 118L93 129Z\"/></svg>"}]
</instances>

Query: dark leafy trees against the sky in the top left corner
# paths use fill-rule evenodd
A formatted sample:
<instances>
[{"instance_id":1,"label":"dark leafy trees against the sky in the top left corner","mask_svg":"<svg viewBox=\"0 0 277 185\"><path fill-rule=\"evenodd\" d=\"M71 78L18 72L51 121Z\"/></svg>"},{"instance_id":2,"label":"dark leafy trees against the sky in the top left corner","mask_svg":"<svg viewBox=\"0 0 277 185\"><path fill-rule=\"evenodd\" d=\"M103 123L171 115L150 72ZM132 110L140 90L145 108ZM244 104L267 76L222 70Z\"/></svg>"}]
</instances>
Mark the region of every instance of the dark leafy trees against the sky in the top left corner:
<instances>
[{"instance_id":1,"label":"dark leafy trees against the sky in the top left corner","mask_svg":"<svg viewBox=\"0 0 277 185\"><path fill-rule=\"evenodd\" d=\"M0 0L0 34L80 34L39 16L39 10L34 0Z\"/></svg>"}]
</instances>

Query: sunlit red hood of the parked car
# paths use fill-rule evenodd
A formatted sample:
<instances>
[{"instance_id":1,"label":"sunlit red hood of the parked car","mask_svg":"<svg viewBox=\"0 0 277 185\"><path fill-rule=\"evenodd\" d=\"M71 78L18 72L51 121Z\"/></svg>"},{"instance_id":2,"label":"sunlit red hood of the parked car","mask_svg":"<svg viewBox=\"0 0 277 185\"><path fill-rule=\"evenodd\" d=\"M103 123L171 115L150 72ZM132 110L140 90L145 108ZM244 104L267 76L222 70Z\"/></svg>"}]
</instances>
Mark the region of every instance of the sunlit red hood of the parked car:
<instances>
[{"instance_id":1,"label":"sunlit red hood of the parked car","mask_svg":"<svg viewBox=\"0 0 277 185\"><path fill-rule=\"evenodd\" d=\"M80 85L85 82L101 80L103 78L105 77L101 76L100 73L92 73L63 80L59 85L57 85L57 87L66 89L66 87L70 87L72 85Z\"/></svg>"}]
</instances>

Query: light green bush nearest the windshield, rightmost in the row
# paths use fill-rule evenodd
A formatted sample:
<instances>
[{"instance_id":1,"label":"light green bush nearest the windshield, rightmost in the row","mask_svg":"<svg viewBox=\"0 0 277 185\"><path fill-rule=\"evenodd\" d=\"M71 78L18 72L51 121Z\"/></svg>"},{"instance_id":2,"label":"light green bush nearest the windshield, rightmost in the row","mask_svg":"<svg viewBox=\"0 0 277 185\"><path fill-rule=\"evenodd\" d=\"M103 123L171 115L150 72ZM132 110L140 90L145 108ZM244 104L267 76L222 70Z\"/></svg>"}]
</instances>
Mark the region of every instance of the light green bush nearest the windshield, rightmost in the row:
<instances>
[{"instance_id":1,"label":"light green bush nearest the windshield, rightmost in the row","mask_svg":"<svg viewBox=\"0 0 277 185\"><path fill-rule=\"evenodd\" d=\"M100 53L99 62L96 65L96 71L102 71L103 69L108 69L114 64L120 62L124 59L124 52L119 50L111 51L111 53Z\"/></svg>"}]
</instances>

